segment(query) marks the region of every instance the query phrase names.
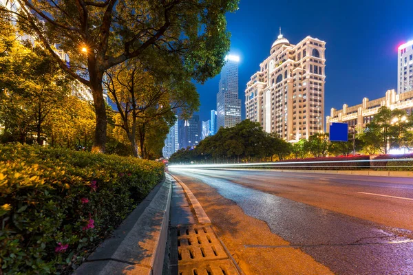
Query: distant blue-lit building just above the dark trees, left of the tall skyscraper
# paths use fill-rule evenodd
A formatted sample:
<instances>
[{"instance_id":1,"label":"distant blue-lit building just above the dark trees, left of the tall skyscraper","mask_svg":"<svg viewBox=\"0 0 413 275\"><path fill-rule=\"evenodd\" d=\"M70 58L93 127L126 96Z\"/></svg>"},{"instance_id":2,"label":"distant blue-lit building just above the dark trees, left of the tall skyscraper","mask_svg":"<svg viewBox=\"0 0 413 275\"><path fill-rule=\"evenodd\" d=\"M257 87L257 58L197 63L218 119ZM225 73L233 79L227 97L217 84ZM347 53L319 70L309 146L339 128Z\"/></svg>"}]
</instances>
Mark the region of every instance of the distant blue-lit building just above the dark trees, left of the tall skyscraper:
<instances>
[{"instance_id":1,"label":"distant blue-lit building just above the dark trees, left of the tall skyscraper","mask_svg":"<svg viewBox=\"0 0 413 275\"><path fill-rule=\"evenodd\" d=\"M199 115L192 115L189 120L179 120L178 128L180 148L198 145L201 137Z\"/></svg>"}]
</instances>

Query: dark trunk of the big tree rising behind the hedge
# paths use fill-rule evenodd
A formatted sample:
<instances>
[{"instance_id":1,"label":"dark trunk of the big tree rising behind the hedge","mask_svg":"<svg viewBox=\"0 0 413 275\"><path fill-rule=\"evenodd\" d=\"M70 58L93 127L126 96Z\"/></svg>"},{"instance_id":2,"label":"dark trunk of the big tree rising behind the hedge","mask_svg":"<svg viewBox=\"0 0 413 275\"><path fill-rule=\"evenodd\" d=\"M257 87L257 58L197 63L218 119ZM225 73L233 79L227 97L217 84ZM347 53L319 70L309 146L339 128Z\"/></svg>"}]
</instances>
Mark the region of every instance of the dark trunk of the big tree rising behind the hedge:
<instances>
[{"instance_id":1,"label":"dark trunk of the big tree rising behind the hedge","mask_svg":"<svg viewBox=\"0 0 413 275\"><path fill-rule=\"evenodd\" d=\"M89 66L90 67L90 66ZM92 146L93 153L105 153L106 148L106 129L107 115L105 108L105 100L103 99L102 76L100 74L92 74L89 71L90 82L92 83L92 94L96 113L96 127ZM92 77L94 76L94 77Z\"/></svg>"}]
</instances>

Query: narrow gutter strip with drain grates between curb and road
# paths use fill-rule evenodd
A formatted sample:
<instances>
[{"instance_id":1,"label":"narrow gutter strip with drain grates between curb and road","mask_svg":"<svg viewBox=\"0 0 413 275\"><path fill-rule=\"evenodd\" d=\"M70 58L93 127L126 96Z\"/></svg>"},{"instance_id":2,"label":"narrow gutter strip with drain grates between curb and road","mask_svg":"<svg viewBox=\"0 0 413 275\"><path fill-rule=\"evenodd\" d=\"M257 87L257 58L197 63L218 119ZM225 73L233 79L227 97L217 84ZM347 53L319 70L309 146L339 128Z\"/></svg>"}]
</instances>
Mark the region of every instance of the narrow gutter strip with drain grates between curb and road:
<instances>
[{"instance_id":1,"label":"narrow gutter strip with drain grates between curb and road","mask_svg":"<svg viewBox=\"0 0 413 275\"><path fill-rule=\"evenodd\" d=\"M172 181L170 274L243 274L191 190Z\"/></svg>"}]
</instances>

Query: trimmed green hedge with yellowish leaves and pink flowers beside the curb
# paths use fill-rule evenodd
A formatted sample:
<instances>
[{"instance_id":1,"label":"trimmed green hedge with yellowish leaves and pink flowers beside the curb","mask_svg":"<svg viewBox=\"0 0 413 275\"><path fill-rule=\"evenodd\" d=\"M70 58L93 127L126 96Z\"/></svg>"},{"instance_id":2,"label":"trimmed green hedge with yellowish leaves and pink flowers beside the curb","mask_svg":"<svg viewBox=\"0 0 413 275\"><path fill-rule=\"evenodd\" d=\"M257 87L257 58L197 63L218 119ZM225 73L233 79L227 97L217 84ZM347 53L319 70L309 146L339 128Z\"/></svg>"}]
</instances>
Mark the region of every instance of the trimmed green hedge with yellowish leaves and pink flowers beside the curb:
<instances>
[{"instance_id":1,"label":"trimmed green hedge with yellowish leaves and pink flowers beside the curb","mask_svg":"<svg viewBox=\"0 0 413 275\"><path fill-rule=\"evenodd\" d=\"M0 144L1 271L72 272L162 177L158 162Z\"/></svg>"}]
</instances>

